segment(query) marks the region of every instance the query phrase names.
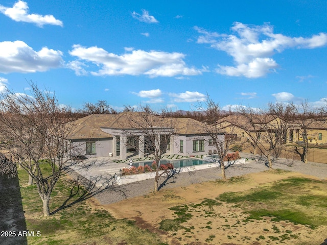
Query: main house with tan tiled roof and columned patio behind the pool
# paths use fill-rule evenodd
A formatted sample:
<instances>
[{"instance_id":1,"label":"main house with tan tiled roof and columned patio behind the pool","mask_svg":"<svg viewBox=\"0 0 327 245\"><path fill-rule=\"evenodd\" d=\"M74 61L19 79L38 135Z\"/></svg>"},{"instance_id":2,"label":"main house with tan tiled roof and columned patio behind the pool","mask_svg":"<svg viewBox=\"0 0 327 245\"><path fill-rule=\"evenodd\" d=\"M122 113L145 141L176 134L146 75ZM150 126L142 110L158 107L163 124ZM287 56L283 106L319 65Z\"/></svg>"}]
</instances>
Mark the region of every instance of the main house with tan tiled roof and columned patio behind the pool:
<instances>
[{"instance_id":1,"label":"main house with tan tiled roof and columned patio behind the pool","mask_svg":"<svg viewBox=\"0 0 327 245\"><path fill-rule=\"evenodd\" d=\"M127 158L127 153L143 157L149 153L144 142L147 137L141 128L137 127L139 112L123 112L120 114L92 114L74 121L75 130L69 139L75 144L71 156L104 157L120 156ZM191 118L160 118L154 132L161 139L170 137L167 149L169 154L184 156L204 155L209 150L214 152L215 146L205 132L204 124ZM166 125L166 126L164 126ZM223 139L223 135L221 135Z\"/></svg>"}]
</instances>

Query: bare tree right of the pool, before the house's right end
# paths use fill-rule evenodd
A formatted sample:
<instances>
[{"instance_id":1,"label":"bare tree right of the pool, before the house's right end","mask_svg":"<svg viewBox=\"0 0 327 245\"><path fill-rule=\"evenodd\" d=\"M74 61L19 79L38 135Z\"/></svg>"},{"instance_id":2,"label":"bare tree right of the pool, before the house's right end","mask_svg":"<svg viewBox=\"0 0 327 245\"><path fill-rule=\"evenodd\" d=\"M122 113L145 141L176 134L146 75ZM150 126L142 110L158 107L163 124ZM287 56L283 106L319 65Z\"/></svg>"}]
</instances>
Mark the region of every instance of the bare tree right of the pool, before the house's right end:
<instances>
[{"instance_id":1,"label":"bare tree right of the pool, before the house's right end","mask_svg":"<svg viewBox=\"0 0 327 245\"><path fill-rule=\"evenodd\" d=\"M211 144L214 144L217 149L220 161L221 175L223 179L226 179L224 159L227 156L230 145L235 141L237 135L234 134L235 123L231 122L228 126L220 122L221 118L226 116L226 113L221 112L219 103L215 103L207 95L207 100L204 103L199 104L199 111L203 111L205 118L205 132L209 135Z\"/></svg>"}]
</instances>

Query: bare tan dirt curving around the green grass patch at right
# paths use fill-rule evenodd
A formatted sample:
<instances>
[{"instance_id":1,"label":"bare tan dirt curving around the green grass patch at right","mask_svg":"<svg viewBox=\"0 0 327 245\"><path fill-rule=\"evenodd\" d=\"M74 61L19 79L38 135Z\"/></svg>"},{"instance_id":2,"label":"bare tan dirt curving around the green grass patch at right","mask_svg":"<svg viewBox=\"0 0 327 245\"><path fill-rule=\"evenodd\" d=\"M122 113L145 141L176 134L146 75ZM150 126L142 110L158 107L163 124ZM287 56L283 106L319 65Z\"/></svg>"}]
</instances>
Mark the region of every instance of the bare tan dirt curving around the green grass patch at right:
<instances>
[{"instance_id":1,"label":"bare tan dirt curving around the green grass patch at right","mask_svg":"<svg viewBox=\"0 0 327 245\"><path fill-rule=\"evenodd\" d=\"M124 200L110 205L92 203L108 210L115 218L136 221L142 229L160 234L169 244L324 244L327 227L315 230L290 222L272 222L269 217L244 223L242 210L228 205L201 207L193 211L193 217L178 231L164 232L159 229L163 219L174 218L169 208L181 204L201 203L204 199L215 199L225 191L243 191L288 177L309 177L299 173L255 173L246 176L241 183L204 182L187 187L178 187L150 193L142 197ZM208 210L209 209L209 210ZM285 239L282 239L285 237Z\"/></svg>"}]
</instances>

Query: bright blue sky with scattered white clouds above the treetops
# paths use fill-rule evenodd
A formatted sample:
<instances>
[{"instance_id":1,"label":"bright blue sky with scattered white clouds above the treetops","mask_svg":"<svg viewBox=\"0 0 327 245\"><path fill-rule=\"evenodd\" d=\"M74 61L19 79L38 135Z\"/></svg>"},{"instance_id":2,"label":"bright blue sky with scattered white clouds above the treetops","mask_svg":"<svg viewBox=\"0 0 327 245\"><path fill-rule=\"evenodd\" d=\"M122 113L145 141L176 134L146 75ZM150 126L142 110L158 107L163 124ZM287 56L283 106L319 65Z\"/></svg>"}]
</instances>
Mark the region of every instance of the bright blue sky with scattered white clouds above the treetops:
<instances>
[{"instance_id":1,"label":"bright blue sky with scattered white clouds above the treetops","mask_svg":"<svg viewBox=\"0 0 327 245\"><path fill-rule=\"evenodd\" d=\"M82 108L327 98L327 1L0 2L0 91Z\"/></svg>"}]
</instances>

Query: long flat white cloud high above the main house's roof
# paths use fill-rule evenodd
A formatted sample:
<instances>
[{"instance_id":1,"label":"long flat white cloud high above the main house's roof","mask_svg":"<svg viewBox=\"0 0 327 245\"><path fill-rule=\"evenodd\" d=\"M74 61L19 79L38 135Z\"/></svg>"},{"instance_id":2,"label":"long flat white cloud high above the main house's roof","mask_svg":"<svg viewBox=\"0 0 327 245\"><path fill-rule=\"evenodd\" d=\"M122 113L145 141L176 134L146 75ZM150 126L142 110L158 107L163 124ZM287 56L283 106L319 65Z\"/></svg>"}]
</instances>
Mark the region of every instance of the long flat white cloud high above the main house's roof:
<instances>
[{"instance_id":1,"label":"long flat white cloud high above the main house's roof","mask_svg":"<svg viewBox=\"0 0 327 245\"><path fill-rule=\"evenodd\" d=\"M91 62L96 64L97 71L90 71L94 76L117 76L117 75L148 75L149 77L173 77L201 75L202 69L187 67L183 61L182 53L167 53L161 51L146 52L133 50L131 53L116 55L108 53L97 46L83 47L74 45L69 52L78 57L79 62ZM75 64L76 65L76 64ZM82 65L79 66L82 69ZM74 70L78 71L76 67Z\"/></svg>"}]
</instances>

